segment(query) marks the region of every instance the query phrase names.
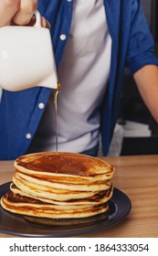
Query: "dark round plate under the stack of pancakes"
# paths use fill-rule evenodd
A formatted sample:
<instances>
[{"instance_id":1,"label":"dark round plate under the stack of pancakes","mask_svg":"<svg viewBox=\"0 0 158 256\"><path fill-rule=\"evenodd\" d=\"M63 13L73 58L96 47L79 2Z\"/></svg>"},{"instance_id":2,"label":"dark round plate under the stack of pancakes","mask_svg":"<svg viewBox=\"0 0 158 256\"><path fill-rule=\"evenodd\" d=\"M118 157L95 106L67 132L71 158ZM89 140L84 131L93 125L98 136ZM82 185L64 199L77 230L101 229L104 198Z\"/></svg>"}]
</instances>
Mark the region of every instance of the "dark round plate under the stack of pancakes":
<instances>
[{"instance_id":1,"label":"dark round plate under the stack of pancakes","mask_svg":"<svg viewBox=\"0 0 158 256\"><path fill-rule=\"evenodd\" d=\"M10 182L0 186L0 197L9 190ZM121 190L114 188L105 214L84 219L28 218L6 211L0 206L0 232L23 237L70 237L107 229L121 222L132 208L132 203ZM43 223L41 223L41 220ZM69 221L69 223L68 223Z\"/></svg>"}]
</instances>

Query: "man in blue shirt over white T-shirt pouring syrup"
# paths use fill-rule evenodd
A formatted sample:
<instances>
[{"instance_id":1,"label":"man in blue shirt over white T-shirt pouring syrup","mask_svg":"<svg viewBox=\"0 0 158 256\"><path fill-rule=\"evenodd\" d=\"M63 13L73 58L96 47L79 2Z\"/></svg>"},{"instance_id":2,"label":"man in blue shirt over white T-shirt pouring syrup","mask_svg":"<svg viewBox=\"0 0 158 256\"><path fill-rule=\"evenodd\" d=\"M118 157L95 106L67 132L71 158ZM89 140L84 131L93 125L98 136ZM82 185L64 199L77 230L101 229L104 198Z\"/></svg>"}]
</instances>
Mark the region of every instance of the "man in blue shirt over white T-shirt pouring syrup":
<instances>
[{"instance_id":1,"label":"man in blue shirt over white T-shirt pouring syrup","mask_svg":"<svg viewBox=\"0 0 158 256\"><path fill-rule=\"evenodd\" d=\"M158 121L158 59L140 0L5 0L0 3L0 26L32 25L37 8L46 17L43 26L48 26L47 20L51 25L61 81L58 151L97 155L101 134L107 155L125 66ZM55 151L52 102L49 89L3 91L0 159Z\"/></svg>"}]
</instances>

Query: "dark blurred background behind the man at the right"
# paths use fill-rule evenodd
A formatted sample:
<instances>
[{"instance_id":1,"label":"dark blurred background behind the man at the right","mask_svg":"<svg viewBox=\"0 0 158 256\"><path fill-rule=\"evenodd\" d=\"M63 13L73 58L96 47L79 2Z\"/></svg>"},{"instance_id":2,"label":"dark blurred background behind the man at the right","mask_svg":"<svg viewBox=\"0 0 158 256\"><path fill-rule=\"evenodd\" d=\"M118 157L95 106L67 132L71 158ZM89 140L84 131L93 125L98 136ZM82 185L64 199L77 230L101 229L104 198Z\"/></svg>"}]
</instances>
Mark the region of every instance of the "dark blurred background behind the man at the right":
<instances>
[{"instance_id":1,"label":"dark blurred background behind the man at the right","mask_svg":"<svg viewBox=\"0 0 158 256\"><path fill-rule=\"evenodd\" d=\"M158 57L158 0L142 0L142 8L153 33ZM158 123L144 105L130 73L125 70L119 125L123 127L120 155L158 154ZM121 127L118 126L118 130Z\"/></svg>"}]
</instances>

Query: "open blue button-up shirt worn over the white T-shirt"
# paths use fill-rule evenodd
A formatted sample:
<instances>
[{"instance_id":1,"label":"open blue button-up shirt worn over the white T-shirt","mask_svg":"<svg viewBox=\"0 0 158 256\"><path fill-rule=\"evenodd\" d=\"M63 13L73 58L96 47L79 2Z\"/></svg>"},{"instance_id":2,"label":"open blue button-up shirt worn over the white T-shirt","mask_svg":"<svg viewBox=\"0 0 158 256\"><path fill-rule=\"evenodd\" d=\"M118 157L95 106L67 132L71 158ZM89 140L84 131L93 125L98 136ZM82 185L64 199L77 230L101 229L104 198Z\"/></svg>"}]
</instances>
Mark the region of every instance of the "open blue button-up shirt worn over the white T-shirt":
<instances>
[{"instance_id":1,"label":"open blue button-up shirt worn over the white T-shirt","mask_svg":"<svg viewBox=\"0 0 158 256\"><path fill-rule=\"evenodd\" d=\"M104 0L112 39L110 80L100 105L104 155L108 153L118 118L124 67L134 73L146 64L158 65L158 59L153 53L153 37L142 14L140 2ZM61 40L60 35L64 34L68 38L73 1L39 0L38 10L51 24L50 32L58 67L67 43L67 39ZM102 69L106 69L106 59ZM49 89L39 87L17 92L3 91L0 104L0 160L15 159L26 153L44 112L44 109L38 108L38 104L43 102L46 105L50 92Z\"/></svg>"}]
</instances>

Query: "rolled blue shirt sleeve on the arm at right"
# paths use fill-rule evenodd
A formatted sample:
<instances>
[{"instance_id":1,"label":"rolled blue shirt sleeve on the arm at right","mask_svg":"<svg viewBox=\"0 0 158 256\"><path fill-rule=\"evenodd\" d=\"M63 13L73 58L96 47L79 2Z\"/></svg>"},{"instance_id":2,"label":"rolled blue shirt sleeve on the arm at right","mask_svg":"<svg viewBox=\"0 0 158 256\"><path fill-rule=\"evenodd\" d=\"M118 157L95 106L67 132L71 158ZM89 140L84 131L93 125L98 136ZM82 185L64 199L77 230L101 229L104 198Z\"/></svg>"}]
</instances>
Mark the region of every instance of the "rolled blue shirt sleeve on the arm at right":
<instances>
[{"instance_id":1,"label":"rolled blue shirt sleeve on the arm at right","mask_svg":"<svg viewBox=\"0 0 158 256\"><path fill-rule=\"evenodd\" d=\"M129 44L126 54L126 67L132 74L143 66L158 66L154 54L153 36L142 12L141 1L132 1L132 22Z\"/></svg>"}]
</instances>

